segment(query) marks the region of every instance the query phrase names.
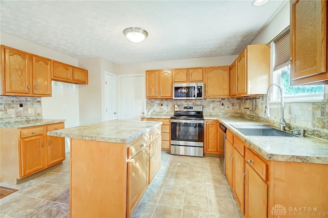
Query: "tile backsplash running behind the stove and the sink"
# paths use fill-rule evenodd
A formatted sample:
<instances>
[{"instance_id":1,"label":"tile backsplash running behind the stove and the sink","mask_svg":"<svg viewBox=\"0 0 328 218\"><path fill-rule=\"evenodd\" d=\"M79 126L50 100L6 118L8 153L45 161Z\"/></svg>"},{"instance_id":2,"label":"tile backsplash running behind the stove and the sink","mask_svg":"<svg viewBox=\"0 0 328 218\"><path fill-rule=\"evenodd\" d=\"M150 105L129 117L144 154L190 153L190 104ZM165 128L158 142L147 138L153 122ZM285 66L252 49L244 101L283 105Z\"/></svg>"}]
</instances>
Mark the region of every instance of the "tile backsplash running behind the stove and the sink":
<instances>
[{"instance_id":1,"label":"tile backsplash running behind the stove and the sink","mask_svg":"<svg viewBox=\"0 0 328 218\"><path fill-rule=\"evenodd\" d=\"M325 89L328 89L327 87ZM328 92L325 92L328 93ZM284 118L288 126L295 128L328 129L328 94L323 102L284 103ZM278 125L280 119L280 102L270 103L271 117L264 117L265 95L248 98L213 98L202 100L147 99L147 115L174 113L175 104L201 104L203 112L208 115L222 113L242 114L251 119ZM223 106L222 106L223 103Z\"/></svg>"}]
</instances>

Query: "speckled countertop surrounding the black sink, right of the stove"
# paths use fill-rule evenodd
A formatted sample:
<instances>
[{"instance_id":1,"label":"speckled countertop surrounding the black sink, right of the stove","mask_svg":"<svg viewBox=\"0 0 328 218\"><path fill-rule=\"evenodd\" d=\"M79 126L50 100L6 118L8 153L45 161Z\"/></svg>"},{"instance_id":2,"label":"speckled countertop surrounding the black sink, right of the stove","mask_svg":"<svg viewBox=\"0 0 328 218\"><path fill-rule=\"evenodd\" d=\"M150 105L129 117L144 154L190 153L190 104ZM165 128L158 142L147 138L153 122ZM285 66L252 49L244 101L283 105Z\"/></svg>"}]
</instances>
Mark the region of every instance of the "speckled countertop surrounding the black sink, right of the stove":
<instances>
[{"instance_id":1,"label":"speckled countertop surrounding the black sink, right of the stove","mask_svg":"<svg viewBox=\"0 0 328 218\"><path fill-rule=\"evenodd\" d=\"M209 116L218 119L266 160L328 164L328 141L314 137L244 136L230 124L263 124L238 116Z\"/></svg>"}]
</instances>

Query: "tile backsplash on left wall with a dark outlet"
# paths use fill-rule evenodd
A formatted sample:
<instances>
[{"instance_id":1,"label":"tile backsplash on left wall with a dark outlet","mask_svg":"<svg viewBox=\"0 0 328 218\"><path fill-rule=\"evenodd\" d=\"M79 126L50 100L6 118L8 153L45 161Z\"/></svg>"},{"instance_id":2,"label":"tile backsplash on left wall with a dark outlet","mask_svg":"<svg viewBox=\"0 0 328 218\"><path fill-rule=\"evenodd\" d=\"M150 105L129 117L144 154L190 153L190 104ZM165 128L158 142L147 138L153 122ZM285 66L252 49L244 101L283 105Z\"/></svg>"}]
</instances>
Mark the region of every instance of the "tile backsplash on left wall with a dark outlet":
<instances>
[{"instance_id":1,"label":"tile backsplash on left wall with a dark outlet","mask_svg":"<svg viewBox=\"0 0 328 218\"><path fill-rule=\"evenodd\" d=\"M20 104L23 107L20 107ZM42 117L40 97L0 96L0 122L12 118Z\"/></svg>"}]
</instances>

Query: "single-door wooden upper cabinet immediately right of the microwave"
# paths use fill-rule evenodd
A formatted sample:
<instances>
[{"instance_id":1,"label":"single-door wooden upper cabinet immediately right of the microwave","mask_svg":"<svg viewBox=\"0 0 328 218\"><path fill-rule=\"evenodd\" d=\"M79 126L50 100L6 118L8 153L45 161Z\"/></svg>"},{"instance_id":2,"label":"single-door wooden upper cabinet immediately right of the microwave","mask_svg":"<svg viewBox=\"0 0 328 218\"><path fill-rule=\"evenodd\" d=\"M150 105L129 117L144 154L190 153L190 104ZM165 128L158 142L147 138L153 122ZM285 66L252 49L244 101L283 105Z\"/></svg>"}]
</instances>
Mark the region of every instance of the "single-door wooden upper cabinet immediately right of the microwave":
<instances>
[{"instance_id":1,"label":"single-door wooden upper cabinet immediately right of the microwave","mask_svg":"<svg viewBox=\"0 0 328 218\"><path fill-rule=\"evenodd\" d=\"M205 98L229 96L230 67L205 68Z\"/></svg>"}]
</instances>

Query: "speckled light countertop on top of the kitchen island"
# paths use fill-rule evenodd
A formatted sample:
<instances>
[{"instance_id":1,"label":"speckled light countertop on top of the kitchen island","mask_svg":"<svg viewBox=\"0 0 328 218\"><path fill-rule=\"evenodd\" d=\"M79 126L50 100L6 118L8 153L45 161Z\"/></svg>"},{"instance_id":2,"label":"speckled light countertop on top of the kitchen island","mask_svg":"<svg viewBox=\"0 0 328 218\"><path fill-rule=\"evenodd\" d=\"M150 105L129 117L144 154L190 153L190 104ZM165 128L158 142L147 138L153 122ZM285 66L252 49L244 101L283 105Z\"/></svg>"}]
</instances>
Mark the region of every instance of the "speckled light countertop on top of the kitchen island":
<instances>
[{"instance_id":1,"label":"speckled light countertop on top of the kitchen island","mask_svg":"<svg viewBox=\"0 0 328 218\"><path fill-rule=\"evenodd\" d=\"M162 122L153 121L110 120L58 129L48 132L47 135L90 141L129 143L161 124Z\"/></svg>"}]
</instances>

